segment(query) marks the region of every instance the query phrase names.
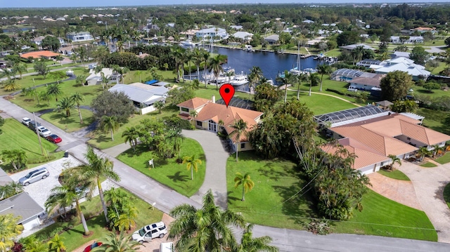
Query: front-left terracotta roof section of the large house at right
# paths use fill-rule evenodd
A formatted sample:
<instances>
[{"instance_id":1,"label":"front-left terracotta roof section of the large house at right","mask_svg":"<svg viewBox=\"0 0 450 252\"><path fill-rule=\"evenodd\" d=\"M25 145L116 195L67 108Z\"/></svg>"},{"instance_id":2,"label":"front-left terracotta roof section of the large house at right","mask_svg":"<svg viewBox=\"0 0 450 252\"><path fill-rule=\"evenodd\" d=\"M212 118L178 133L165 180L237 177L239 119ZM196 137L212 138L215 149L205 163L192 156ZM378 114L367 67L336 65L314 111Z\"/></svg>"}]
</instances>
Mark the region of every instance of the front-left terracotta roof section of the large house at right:
<instances>
[{"instance_id":1,"label":"front-left terracotta roof section of the large house at right","mask_svg":"<svg viewBox=\"0 0 450 252\"><path fill-rule=\"evenodd\" d=\"M352 138L342 138L338 140L339 144L345 147L349 153L355 154L354 164L352 168L359 169L366 166L381 163L383 161L389 161L389 158L371 149L370 147L358 142ZM338 150L337 147L327 144L321 147L324 152L335 154Z\"/></svg>"}]
</instances>

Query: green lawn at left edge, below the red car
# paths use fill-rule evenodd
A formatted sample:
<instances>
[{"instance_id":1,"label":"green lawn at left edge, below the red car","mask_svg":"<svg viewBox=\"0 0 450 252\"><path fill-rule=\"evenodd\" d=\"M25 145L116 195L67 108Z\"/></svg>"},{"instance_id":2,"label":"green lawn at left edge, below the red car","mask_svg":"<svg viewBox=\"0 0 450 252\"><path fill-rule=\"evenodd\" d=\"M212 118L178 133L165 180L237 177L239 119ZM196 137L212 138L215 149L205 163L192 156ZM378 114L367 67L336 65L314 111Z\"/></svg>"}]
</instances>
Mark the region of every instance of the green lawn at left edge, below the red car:
<instances>
[{"instance_id":1,"label":"green lawn at left edge, below the red car","mask_svg":"<svg viewBox=\"0 0 450 252\"><path fill-rule=\"evenodd\" d=\"M37 139L36 133L20 124L20 122L15 119L6 119L4 126L1 127L3 134L0 135L0 152L3 150L23 150L27 154L29 164L39 164L47 159L42 156L41 147L39 146L39 141ZM58 146L53 143L41 138L42 146L44 150L53 156L53 152ZM6 171L12 171L13 166L4 166Z\"/></svg>"}]
</instances>

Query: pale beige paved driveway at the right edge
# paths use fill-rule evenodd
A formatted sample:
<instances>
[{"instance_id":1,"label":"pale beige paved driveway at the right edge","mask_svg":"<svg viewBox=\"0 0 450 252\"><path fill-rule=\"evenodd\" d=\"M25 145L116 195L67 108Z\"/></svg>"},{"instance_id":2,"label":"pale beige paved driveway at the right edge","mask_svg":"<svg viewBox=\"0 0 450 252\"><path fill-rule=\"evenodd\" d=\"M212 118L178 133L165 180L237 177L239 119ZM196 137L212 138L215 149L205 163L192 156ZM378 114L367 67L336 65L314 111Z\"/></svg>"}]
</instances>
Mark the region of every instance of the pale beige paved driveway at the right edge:
<instances>
[{"instance_id":1,"label":"pale beige paved driveway at the right edge","mask_svg":"<svg viewBox=\"0 0 450 252\"><path fill-rule=\"evenodd\" d=\"M450 183L450 164L425 168L403 161L398 169L413 183L423 211L437 230L437 241L450 243L450 210L443 194L445 185Z\"/></svg>"}]
</instances>

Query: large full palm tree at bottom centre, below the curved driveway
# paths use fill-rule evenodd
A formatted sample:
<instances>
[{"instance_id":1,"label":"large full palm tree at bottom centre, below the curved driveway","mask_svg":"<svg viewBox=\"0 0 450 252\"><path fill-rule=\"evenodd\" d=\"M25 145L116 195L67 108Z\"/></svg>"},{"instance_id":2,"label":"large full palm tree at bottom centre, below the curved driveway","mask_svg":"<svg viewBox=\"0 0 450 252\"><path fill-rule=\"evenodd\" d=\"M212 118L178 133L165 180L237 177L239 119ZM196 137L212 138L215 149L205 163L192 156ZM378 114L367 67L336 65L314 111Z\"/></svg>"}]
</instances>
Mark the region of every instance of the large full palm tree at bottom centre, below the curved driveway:
<instances>
[{"instance_id":1,"label":"large full palm tree at bottom centre, below the curved driveway","mask_svg":"<svg viewBox=\"0 0 450 252\"><path fill-rule=\"evenodd\" d=\"M238 244L231 228L245 227L243 215L214 204L211 190L203 197L202 208L182 204L170 215L175 220L170 225L169 239L178 239L176 251L236 251Z\"/></svg>"}]
</instances>

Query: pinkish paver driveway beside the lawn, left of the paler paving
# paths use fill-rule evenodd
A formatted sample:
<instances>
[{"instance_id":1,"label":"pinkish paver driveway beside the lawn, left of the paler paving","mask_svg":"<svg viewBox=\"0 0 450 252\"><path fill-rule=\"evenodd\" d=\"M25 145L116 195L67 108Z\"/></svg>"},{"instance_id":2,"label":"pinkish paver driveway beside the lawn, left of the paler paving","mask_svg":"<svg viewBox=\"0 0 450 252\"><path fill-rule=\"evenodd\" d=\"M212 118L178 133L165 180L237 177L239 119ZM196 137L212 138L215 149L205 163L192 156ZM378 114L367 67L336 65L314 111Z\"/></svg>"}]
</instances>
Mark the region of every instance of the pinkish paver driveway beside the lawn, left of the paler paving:
<instances>
[{"instance_id":1,"label":"pinkish paver driveway beside the lawn, left of the paler paving","mask_svg":"<svg viewBox=\"0 0 450 252\"><path fill-rule=\"evenodd\" d=\"M392 199L405 206L423 211L411 181L396 180L380 173L371 173L367 176L371 179L371 190L383 195L387 199Z\"/></svg>"}]
</instances>

